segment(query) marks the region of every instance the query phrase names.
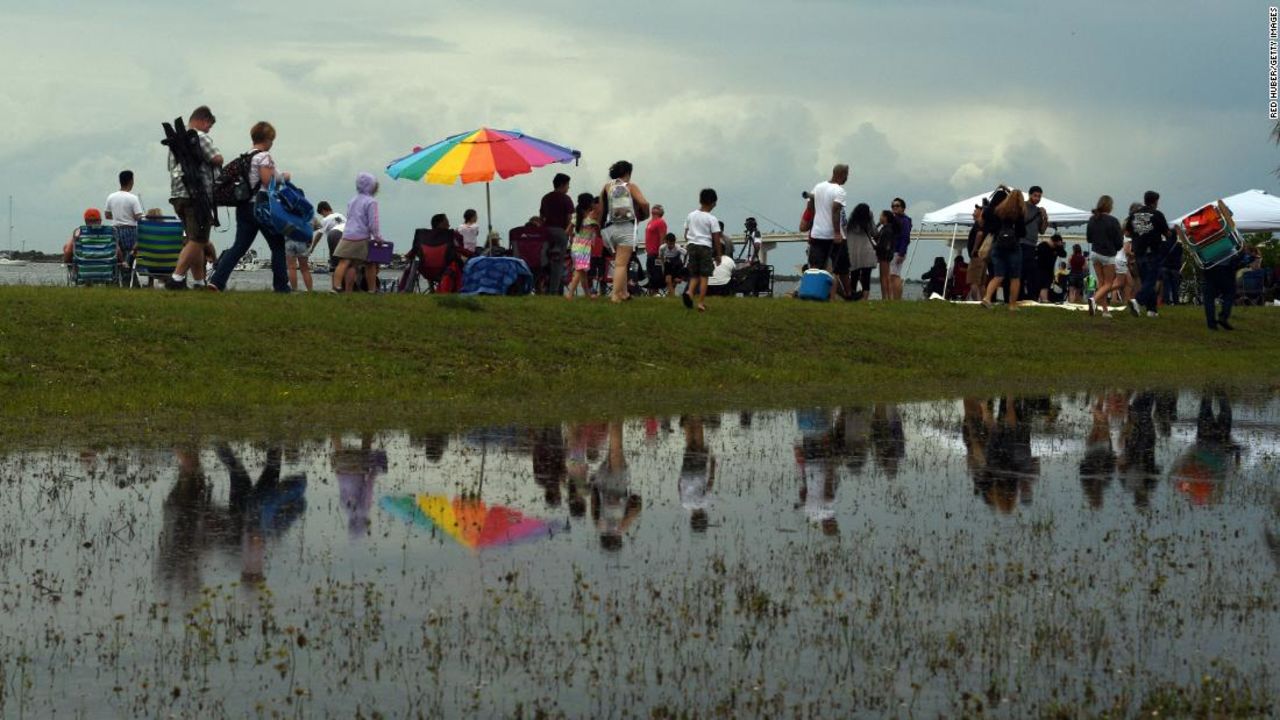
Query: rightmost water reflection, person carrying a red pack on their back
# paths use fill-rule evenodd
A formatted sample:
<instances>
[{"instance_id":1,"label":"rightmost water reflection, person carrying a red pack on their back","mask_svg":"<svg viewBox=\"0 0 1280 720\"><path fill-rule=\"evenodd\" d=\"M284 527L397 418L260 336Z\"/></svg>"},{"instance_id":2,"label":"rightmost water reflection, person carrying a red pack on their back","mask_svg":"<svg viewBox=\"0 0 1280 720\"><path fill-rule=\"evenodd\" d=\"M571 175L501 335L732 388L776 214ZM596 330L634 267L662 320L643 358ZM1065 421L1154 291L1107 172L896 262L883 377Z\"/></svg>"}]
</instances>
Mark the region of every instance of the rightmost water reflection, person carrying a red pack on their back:
<instances>
[{"instance_id":1,"label":"rightmost water reflection, person carrying a red pack on their back","mask_svg":"<svg viewBox=\"0 0 1280 720\"><path fill-rule=\"evenodd\" d=\"M1178 459L1170 477L1192 503L1212 505L1239 462L1240 446L1231 439L1231 401L1225 392L1206 393L1196 416L1196 445Z\"/></svg>"}]
</instances>

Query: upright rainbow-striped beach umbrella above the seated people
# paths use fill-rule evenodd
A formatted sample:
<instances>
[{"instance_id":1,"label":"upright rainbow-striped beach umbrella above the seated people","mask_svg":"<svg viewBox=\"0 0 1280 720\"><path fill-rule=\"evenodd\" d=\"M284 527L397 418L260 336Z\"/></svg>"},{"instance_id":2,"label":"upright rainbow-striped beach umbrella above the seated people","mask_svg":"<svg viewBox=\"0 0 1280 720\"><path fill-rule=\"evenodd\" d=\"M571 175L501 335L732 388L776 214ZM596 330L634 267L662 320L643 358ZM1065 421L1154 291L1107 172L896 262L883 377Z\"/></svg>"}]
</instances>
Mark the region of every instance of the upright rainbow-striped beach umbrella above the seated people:
<instances>
[{"instance_id":1,"label":"upright rainbow-striped beach umbrella above the seated people","mask_svg":"<svg viewBox=\"0 0 1280 720\"><path fill-rule=\"evenodd\" d=\"M430 184L485 183L485 211L490 214L492 232L489 183L494 176L507 179L552 163L576 163L581 156L577 150L518 131L480 128L445 137L426 147L416 147L413 152L387 165L387 174L396 179Z\"/></svg>"}]
</instances>

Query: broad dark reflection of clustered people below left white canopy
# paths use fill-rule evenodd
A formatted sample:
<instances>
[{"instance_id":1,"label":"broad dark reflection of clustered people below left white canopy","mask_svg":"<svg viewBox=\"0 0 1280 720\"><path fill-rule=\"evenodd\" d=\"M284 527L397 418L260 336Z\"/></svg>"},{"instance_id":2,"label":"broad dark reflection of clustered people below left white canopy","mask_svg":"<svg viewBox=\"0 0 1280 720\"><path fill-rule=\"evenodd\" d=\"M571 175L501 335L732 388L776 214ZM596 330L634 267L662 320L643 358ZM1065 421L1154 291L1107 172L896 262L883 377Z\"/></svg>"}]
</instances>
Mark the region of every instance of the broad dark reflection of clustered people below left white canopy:
<instances>
[{"instance_id":1,"label":"broad dark reflection of clustered people below left white canopy","mask_svg":"<svg viewBox=\"0 0 1280 720\"><path fill-rule=\"evenodd\" d=\"M961 434L969 448L974 492L996 511L1009 514L1019 503L1032 502L1039 459L1032 454L1030 420L1050 414L1053 405L1044 398L1005 397L998 411L993 407L966 401Z\"/></svg>"}]
</instances>

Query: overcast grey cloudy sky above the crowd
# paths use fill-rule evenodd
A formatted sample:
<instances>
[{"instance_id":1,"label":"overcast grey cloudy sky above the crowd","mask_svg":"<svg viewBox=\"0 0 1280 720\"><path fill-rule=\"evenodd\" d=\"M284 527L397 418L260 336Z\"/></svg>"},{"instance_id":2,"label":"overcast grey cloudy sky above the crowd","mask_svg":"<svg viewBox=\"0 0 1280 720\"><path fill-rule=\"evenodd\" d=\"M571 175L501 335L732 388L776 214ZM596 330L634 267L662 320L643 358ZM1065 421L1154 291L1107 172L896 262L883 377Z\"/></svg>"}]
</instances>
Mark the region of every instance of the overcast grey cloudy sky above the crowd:
<instances>
[{"instance_id":1,"label":"overcast grey cloudy sky above the crowd","mask_svg":"<svg viewBox=\"0 0 1280 720\"><path fill-rule=\"evenodd\" d=\"M15 243L41 250L120 169L168 208L160 123L200 104L228 156L253 122L275 124L276 161L312 200L344 206L355 174L375 172L398 241L436 211L483 214L483 184L383 172L479 126L581 150L575 193L631 160L673 224L716 187L731 231L751 214L794 229L800 191L837 161L852 165L851 202L902 196L915 218L996 182L1079 208L1155 188L1180 214L1275 192L1280 164L1267 4L1252 0L3 6L0 201L14 197ZM535 213L557 169L494 183L494 225Z\"/></svg>"}]
</instances>

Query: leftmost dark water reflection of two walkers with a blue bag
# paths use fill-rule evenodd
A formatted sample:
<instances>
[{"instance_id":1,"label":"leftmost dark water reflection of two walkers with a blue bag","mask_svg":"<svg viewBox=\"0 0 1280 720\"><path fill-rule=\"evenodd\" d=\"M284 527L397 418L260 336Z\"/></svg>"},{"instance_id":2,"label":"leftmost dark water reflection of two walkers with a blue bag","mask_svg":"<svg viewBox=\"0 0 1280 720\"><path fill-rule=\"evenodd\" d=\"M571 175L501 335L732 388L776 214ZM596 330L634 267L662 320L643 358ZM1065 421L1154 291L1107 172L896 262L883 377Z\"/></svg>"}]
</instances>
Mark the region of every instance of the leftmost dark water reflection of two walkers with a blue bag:
<instances>
[{"instance_id":1,"label":"leftmost dark water reflection of two walkers with a blue bag","mask_svg":"<svg viewBox=\"0 0 1280 720\"><path fill-rule=\"evenodd\" d=\"M238 556L241 579L265 579L266 546L283 534L306 510L306 475L280 479L280 448L268 450L266 464L255 483L230 446L215 447L230 479L225 506L214 502L214 488L200 451L175 450L178 479L163 506L157 571L161 580L183 592L197 592L201 569L215 551Z\"/></svg>"}]
</instances>

